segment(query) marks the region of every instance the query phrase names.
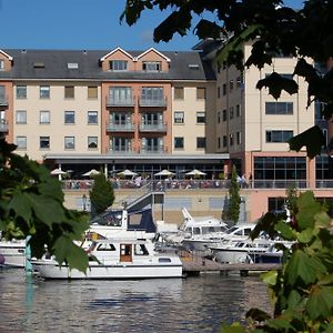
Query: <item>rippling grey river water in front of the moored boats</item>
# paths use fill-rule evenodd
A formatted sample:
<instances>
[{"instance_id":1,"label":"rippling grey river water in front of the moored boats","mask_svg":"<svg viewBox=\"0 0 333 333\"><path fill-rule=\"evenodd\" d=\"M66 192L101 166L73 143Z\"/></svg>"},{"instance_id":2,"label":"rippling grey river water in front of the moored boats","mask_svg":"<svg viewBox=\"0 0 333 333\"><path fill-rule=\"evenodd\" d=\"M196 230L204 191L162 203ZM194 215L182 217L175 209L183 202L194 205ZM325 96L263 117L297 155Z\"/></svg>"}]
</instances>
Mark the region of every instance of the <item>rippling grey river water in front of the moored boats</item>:
<instances>
[{"instance_id":1,"label":"rippling grey river water in front of the moored boats","mask_svg":"<svg viewBox=\"0 0 333 333\"><path fill-rule=\"evenodd\" d=\"M0 271L0 332L219 332L270 306L258 276L44 281Z\"/></svg>"}]
</instances>

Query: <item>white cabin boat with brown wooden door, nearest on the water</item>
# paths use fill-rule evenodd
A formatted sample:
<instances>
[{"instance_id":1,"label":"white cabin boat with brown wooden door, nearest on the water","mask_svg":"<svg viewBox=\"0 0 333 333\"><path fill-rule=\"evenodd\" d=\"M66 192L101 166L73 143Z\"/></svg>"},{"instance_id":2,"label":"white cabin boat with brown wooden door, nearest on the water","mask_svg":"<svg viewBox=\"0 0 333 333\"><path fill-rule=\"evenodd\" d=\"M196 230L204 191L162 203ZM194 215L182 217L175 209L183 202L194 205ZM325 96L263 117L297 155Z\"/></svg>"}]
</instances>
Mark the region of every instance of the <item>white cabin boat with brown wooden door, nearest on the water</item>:
<instances>
[{"instance_id":1,"label":"white cabin boat with brown wooden door, nearest on the water","mask_svg":"<svg viewBox=\"0 0 333 333\"><path fill-rule=\"evenodd\" d=\"M99 240L88 250L89 268L84 273L50 258L32 259L32 268L44 279L152 279L181 278L178 255L160 254L150 240Z\"/></svg>"}]
</instances>

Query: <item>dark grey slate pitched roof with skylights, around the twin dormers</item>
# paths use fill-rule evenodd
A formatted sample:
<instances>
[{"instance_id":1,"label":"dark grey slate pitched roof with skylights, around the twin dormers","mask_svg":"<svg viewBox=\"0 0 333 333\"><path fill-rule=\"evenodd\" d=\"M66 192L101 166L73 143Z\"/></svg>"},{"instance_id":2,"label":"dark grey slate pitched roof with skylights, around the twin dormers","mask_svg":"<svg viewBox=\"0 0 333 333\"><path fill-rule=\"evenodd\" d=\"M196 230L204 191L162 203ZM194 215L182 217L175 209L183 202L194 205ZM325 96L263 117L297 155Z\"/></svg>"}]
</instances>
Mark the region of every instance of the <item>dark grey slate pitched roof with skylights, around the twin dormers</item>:
<instances>
[{"instance_id":1,"label":"dark grey slate pitched roof with skylights, around the twin dormers","mask_svg":"<svg viewBox=\"0 0 333 333\"><path fill-rule=\"evenodd\" d=\"M209 62L195 51L164 51L170 59L168 72L103 71L100 59L108 54L105 50L8 49L4 52L12 56L13 67L0 72L2 80L215 80ZM144 52L127 53L135 58Z\"/></svg>"}]
</instances>

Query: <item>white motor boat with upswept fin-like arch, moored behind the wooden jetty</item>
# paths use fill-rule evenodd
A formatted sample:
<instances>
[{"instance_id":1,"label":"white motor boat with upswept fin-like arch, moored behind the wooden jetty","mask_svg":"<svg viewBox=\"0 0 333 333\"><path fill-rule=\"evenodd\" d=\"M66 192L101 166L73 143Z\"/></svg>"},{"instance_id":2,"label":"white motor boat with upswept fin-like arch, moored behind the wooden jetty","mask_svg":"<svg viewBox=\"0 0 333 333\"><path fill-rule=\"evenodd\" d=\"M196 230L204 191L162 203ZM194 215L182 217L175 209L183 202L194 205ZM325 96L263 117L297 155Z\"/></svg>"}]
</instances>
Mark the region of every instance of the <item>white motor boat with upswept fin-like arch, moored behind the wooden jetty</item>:
<instances>
[{"instance_id":1,"label":"white motor boat with upswept fin-like arch, moored behind the wooden jetty","mask_svg":"<svg viewBox=\"0 0 333 333\"><path fill-rule=\"evenodd\" d=\"M163 234L167 243L184 245L192 240L198 240L195 250L206 250L205 243L210 240L220 239L226 230L226 223L213 216L192 216L185 208L182 208L182 213L184 222L179 231Z\"/></svg>"}]
</instances>

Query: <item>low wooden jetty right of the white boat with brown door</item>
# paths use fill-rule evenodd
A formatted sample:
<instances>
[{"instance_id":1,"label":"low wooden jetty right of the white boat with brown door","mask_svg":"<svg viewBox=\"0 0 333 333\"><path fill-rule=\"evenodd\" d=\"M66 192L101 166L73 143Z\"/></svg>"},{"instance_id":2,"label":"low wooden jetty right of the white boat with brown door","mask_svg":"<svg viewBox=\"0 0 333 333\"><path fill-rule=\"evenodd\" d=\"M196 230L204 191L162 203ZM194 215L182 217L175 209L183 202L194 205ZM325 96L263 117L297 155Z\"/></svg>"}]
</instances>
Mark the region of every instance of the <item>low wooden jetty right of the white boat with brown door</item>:
<instances>
[{"instance_id":1,"label":"low wooden jetty right of the white boat with brown door","mask_svg":"<svg viewBox=\"0 0 333 333\"><path fill-rule=\"evenodd\" d=\"M200 256L180 256L183 263L184 276L196 276L202 272L216 272L228 275L229 272L239 272L241 276L248 276L251 272L266 272L280 270L281 264L268 263L219 263Z\"/></svg>"}]
</instances>

